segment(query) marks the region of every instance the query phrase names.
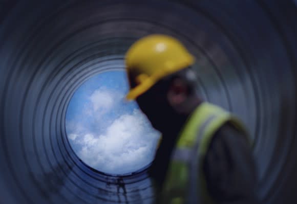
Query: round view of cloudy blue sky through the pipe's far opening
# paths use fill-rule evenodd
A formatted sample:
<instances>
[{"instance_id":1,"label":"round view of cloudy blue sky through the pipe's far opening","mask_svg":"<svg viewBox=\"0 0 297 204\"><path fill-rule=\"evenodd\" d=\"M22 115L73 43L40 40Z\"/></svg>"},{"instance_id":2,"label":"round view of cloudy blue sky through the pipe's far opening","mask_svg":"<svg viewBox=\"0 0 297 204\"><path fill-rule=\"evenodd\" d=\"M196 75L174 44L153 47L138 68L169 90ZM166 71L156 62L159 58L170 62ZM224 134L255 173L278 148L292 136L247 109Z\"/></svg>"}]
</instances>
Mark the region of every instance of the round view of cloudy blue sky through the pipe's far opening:
<instances>
[{"instance_id":1,"label":"round view of cloudy blue sky through the pipe's far opening","mask_svg":"<svg viewBox=\"0 0 297 204\"><path fill-rule=\"evenodd\" d=\"M128 92L125 72L98 74L74 93L66 114L69 142L86 164L125 174L149 164L160 133L152 128Z\"/></svg>"}]
</instances>

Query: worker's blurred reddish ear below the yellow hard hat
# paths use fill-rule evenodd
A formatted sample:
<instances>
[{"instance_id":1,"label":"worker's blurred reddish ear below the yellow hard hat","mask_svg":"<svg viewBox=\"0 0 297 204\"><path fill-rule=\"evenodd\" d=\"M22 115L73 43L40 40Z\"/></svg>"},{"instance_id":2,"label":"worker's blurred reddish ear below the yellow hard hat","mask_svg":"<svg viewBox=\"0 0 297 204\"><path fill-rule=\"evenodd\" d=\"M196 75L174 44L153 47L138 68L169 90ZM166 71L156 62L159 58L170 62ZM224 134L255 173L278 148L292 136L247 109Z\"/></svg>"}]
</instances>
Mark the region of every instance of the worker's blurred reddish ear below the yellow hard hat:
<instances>
[{"instance_id":1,"label":"worker's blurred reddish ear below the yellow hard hat","mask_svg":"<svg viewBox=\"0 0 297 204\"><path fill-rule=\"evenodd\" d=\"M187 98L187 85L181 78L172 80L167 92L167 100L169 104L178 108Z\"/></svg>"}]
</instances>

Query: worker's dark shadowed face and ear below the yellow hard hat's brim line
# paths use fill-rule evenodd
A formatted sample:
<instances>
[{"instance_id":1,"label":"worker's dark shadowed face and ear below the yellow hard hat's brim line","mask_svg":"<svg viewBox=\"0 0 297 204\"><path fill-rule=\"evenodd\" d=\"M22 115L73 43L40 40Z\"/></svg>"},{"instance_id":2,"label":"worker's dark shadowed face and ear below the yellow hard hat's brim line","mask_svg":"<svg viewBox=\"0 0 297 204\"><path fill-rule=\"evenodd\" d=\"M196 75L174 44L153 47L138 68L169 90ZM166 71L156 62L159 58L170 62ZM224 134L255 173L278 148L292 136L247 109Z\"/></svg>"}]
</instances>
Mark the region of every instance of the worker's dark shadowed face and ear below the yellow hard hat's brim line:
<instances>
[{"instance_id":1,"label":"worker's dark shadowed face and ear below the yellow hard hat's brim line","mask_svg":"<svg viewBox=\"0 0 297 204\"><path fill-rule=\"evenodd\" d=\"M136 99L140 109L157 130L164 133L166 128L172 128L168 124L174 124L179 115L183 114L188 96L185 86L195 86L196 82L192 73L192 70L185 69L178 76L168 76ZM193 85L190 81L193 81Z\"/></svg>"}]
</instances>

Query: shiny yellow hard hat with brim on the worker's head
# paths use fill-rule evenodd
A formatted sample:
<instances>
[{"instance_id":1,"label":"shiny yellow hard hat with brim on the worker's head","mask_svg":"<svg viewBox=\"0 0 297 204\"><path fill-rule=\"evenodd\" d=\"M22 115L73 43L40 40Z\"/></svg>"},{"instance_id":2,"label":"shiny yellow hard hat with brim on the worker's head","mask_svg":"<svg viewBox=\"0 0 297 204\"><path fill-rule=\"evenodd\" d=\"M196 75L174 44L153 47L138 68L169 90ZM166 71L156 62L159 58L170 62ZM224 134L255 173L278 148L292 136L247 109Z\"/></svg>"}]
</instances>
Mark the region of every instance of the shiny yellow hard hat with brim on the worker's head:
<instances>
[{"instance_id":1,"label":"shiny yellow hard hat with brim on the worker's head","mask_svg":"<svg viewBox=\"0 0 297 204\"><path fill-rule=\"evenodd\" d=\"M194 56L183 44L171 36L154 34L139 39L125 56L126 71L134 73L133 80L137 84L130 89L126 99L136 99L161 78L192 65L194 61Z\"/></svg>"}]
</instances>

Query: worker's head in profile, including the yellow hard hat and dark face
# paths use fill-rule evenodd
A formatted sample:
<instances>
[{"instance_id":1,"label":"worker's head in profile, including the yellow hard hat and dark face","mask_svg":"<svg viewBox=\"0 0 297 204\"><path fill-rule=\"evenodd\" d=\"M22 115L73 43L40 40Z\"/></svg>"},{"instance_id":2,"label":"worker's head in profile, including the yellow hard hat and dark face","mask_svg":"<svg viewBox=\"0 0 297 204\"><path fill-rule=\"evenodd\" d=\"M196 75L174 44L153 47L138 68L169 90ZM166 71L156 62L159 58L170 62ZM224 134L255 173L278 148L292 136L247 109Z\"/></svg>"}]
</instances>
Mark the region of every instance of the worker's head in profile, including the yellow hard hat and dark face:
<instances>
[{"instance_id":1,"label":"worker's head in profile, including the yellow hard hat and dark face","mask_svg":"<svg viewBox=\"0 0 297 204\"><path fill-rule=\"evenodd\" d=\"M187 112L197 78L190 66L194 57L175 38L150 35L136 41L126 53L130 82L127 99L161 130L165 120Z\"/></svg>"}]
</instances>

